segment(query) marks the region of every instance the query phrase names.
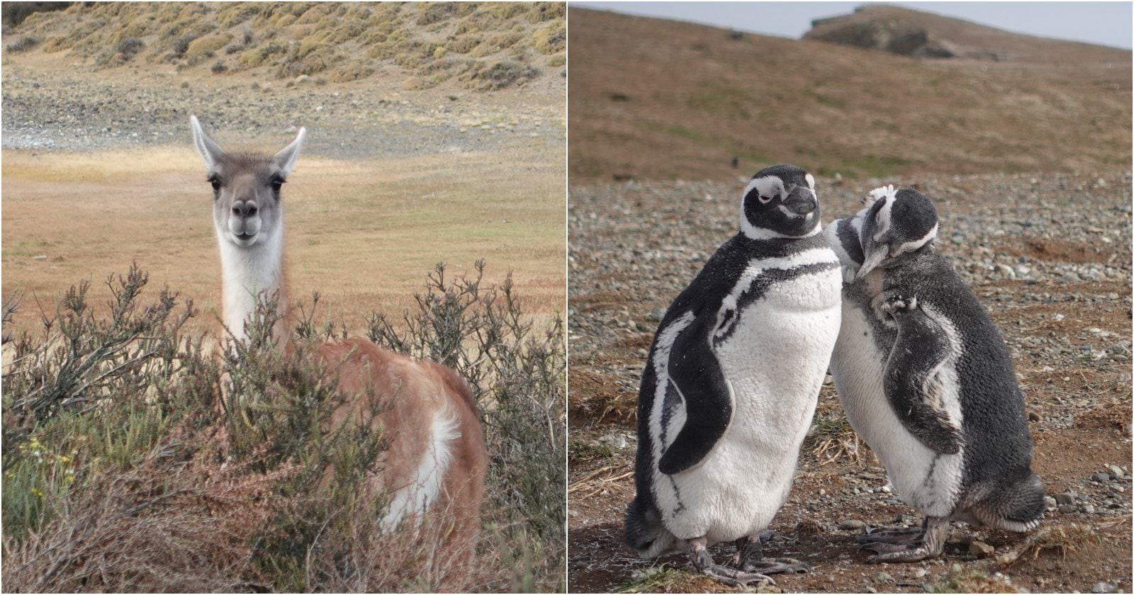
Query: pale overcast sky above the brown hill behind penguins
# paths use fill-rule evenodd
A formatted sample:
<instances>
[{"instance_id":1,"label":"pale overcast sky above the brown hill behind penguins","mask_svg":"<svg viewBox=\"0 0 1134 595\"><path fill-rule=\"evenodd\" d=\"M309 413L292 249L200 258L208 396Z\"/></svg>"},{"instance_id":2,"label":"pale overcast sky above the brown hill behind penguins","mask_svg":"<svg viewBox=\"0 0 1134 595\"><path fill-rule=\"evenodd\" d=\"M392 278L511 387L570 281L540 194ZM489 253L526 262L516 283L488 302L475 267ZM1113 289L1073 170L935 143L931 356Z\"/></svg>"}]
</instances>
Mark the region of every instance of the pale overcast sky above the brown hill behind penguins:
<instances>
[{"instance_id":1,"label":"pale overcast sky above the brown hill behind penguins","mask_svg":"<svg viewBox=\"0 0 1134 595\"><path fill-rule=\"evenodd\" d=\"M811 19L846 15L864 2L575 2L582 8L702 23L799 39ZM888 2L1041 37L1131 49L1131 2Z\"/></svg>"}]
</instances>

